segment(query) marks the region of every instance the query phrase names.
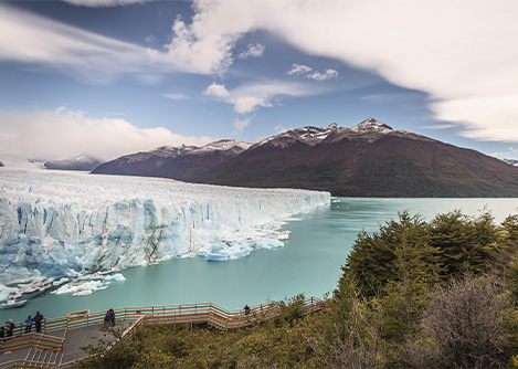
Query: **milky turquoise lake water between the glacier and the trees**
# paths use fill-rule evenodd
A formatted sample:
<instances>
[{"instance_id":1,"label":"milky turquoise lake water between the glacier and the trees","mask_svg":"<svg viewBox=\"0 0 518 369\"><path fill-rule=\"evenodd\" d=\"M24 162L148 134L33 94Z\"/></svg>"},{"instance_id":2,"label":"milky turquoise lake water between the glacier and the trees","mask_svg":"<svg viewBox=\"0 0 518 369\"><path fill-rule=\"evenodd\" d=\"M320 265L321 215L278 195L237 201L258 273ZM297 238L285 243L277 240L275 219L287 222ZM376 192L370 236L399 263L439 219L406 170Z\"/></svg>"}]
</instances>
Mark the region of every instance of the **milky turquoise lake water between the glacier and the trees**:
<instances>
[{"instance_id":1,"label":"milky turquoise lake water between the glacier and the trees","mask_svg":"<svg viewBox=\"0 0 518 369\"><path fill-rule=\"evenodd\" d=\"M298 293L323 297L340 276L352 244L361 230L374 232L380 223L409 210L431 220L436 213L461 209L476 215L485 207L495 221L518 212L518 199L364 199L335 198L329 207L295 215L284 225L292 231L285 246L258 250L249 257L208 262L202 257L175 259L123 271L123 282L88 296L50 294L31 299L22 308L0 310L0 321L24 320L36 310L45 317L70 312L107 310L110 307L173 305L213 302L242 308L267 299L284 299Z\"/></svg>"}]
</instances>

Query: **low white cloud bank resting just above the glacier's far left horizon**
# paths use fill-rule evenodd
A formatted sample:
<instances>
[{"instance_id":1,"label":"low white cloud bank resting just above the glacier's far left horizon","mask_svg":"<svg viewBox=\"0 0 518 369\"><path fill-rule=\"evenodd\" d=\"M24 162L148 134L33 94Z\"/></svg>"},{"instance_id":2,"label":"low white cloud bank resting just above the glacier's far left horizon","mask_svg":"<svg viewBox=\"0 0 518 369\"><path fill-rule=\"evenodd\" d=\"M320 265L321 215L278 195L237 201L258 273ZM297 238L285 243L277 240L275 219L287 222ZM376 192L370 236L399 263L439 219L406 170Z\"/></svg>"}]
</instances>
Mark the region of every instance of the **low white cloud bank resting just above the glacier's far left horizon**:
<instances>
[{"instance_id":1,"label":"low white cloud bank resting just above the glacier's far left horizon","mask_svg":"<svg viewBox=\"0 0 518 369\"><path fill-rule=\"evenodd\" d=\"M0 112L0 151L67 158L83 152L105 160L162 145L202 146L214 138L182 136L167 128L138 128L123 118L93 118L59 107L28 114Z\"/></svg>"}]
</instances>

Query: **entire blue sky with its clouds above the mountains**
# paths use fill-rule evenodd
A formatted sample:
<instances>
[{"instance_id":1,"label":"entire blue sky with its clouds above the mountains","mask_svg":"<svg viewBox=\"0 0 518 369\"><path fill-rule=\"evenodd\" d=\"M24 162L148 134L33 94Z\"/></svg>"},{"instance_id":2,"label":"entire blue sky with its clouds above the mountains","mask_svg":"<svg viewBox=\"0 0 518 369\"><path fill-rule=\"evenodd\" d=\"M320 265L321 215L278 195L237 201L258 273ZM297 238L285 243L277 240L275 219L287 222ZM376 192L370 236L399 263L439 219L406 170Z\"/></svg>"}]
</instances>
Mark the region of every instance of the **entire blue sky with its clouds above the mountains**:
<instances>
[{"instance_id":1,"label":"entire blue sky with its clouds above the mountains","mask_svg":"<svg viewBox=\"0 0 518 369\"><path fill-rule=\"evenodd\" d=\"M0 152L103 159L374 117L518 159L518 2L0 1Z\"/></svg>"}]
</instances>

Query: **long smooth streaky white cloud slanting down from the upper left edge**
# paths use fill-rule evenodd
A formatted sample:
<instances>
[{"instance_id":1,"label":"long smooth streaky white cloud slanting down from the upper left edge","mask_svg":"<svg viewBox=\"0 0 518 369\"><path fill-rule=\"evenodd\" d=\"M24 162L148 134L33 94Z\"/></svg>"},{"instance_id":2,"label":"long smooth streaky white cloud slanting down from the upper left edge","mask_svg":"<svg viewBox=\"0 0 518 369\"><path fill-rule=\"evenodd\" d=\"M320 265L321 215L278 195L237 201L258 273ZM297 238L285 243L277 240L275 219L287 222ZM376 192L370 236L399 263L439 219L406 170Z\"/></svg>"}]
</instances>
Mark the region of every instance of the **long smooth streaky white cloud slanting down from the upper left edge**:
<instances>
[{"instance_id":1,"label":"long smooth streaky white cloud slanting down from the upper left edge","mask_svg":"<svg viewBox=\"0 0 518 369\"><path fill-rule=\"evenodd\" d=\"M0 4L0 60L47 65L88 82L148 74L146 49Z\"/></svg>"}]
</instances>

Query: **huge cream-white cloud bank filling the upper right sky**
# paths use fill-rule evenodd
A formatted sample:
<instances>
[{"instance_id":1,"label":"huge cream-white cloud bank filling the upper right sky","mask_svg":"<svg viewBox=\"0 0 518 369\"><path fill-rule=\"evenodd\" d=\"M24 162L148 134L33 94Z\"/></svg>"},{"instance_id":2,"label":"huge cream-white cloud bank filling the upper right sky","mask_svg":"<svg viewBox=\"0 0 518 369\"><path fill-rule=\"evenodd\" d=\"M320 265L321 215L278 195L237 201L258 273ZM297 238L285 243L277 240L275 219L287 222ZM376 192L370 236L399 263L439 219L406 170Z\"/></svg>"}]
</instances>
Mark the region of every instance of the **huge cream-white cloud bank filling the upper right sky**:
<instances>
[{"instance_id":1,"label":"huge cream-white cloud bank filling the upper right sky","mask_svg":"<svg viewBox=\"0 0 518 369\"><path fill-rule=\"evenodd\" d=\"M187 27L191 45L203 46L221 68L231 63L233 41L266 30L310 55L427 93L435 118L458 123L464 136L518 141L517 1L199 0L194 6Z\"/></svg>"}]
</instances>

